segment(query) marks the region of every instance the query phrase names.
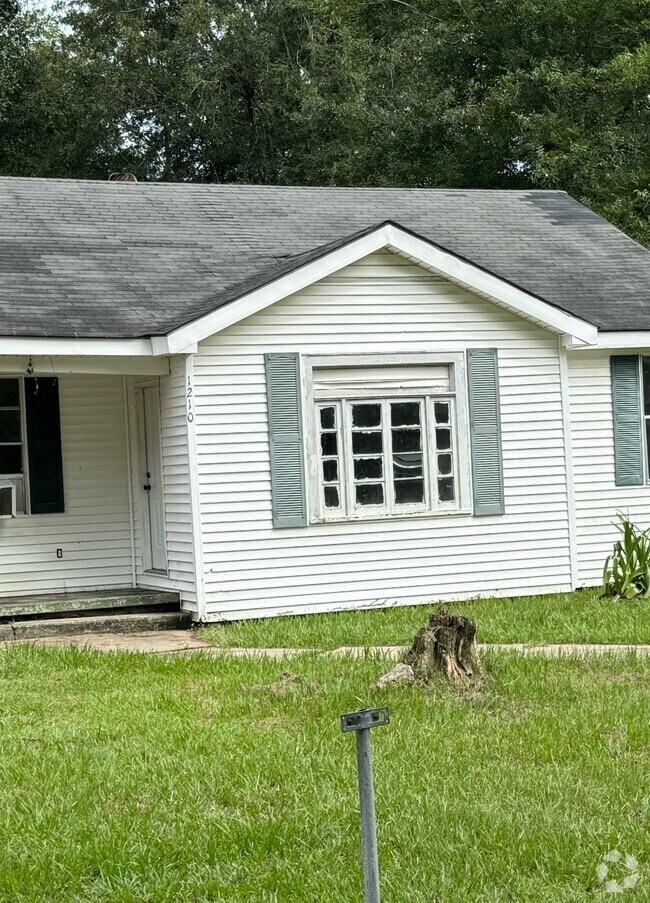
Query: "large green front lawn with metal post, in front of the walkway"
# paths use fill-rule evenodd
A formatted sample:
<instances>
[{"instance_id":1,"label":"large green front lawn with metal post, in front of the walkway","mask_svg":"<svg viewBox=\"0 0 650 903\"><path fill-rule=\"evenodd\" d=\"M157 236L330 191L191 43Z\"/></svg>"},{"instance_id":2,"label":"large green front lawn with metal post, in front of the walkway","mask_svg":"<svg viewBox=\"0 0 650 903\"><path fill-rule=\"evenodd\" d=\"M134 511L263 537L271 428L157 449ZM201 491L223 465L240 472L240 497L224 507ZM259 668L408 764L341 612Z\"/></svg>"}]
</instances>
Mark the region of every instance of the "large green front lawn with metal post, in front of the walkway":
<instances>
[{"instance_id":1,"label":"large green front lawn with metal post, in front of the walkway","mask_svg":"<svg viewBox=\"0 0 650 903\"><path fill-rule=\"evenodd\" d=\"M644 870L624 899L650 899L650 660L488 666L470 697L378 692L373 657L6 649L0 900L360 903L338 715L361 704L392 715L374 733L384 903L610 899L613 848Z\"/></svg>"}]
</instances>

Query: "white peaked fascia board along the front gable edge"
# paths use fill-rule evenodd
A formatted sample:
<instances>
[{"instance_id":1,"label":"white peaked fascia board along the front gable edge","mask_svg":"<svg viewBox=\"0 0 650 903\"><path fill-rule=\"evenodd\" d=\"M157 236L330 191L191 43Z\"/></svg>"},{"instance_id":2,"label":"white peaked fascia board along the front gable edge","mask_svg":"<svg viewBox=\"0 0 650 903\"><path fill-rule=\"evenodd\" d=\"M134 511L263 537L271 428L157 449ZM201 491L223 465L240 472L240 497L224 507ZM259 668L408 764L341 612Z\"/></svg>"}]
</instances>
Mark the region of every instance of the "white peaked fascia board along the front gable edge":
<instances>
[{"instance_id":1,"label":"white peaked fascia board along the front gable edge","mask_svg":"<svg viewBox=\"0 0 650 903\"><path fill-rule=\"evenodd\" d=\"M188 346L194 346L197 342L250 317L276 301L301 291L308 285L325 279L343 267L383 248L411 257L441 276L487 297L519 316L539 323L552 332L569 335L587 344L594 344L597 341L598 330L590 323L558 310L480 267L461 260L397 226L386 224L335 251L324 254L286 276L280 276L273 282L243 295L237 301L174 330L167 336L168 353L179 354Z\"/></svg>"}]
</instances>

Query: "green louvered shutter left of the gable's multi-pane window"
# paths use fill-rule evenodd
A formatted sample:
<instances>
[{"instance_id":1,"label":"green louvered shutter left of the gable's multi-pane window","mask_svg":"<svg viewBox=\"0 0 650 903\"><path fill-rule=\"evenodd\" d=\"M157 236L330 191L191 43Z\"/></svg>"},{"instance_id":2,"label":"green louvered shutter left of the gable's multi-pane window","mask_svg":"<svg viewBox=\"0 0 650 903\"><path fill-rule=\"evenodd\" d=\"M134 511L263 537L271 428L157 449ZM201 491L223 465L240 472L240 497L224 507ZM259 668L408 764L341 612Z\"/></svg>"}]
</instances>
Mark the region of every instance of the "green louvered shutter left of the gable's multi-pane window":
<instances>
[{"instance_id":1,"label":"green louvered shutter left of the gable's multi-pane window","mask_svg":"<svg viewBox=\"0 0 650 903\"><path fill-rule=\"evenodd\" d=\"M274 527L307 524L305 468L297 354L266 354Z\"/></svg>"}]
</instances>

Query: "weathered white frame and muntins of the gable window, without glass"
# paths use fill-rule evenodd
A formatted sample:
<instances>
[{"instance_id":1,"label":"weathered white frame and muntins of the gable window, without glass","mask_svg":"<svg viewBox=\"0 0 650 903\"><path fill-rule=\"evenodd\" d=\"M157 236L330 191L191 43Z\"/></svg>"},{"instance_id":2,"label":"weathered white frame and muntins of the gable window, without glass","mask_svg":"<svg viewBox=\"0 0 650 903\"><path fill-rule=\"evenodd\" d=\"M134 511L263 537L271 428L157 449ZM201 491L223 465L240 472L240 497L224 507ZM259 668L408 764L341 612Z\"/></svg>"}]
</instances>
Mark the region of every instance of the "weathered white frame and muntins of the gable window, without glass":
<instances>
[{"instance_id":1,"label":"weathered white frame and muntins of the gable window, without glass","mask_svg":"<svg viewBox=\"0 0 650 903\"><path fill-rule=\"evenodd\" d=\"M399 520L413 517L441 517L459 514L471 514L471 466L469 449L469 424L467 409L467 379L465 368L465 354L462 351L447 353L414 353L414 354L360 354L360 355L311 355L303 358L302 370L303 383L303 411L305 412L305 433L307 450L307 490L310 523L336 523L368 520ZM404 387L402 389L382 388L376 386L373 391L372 384L363 385L363 371L372 367L399 367L399 366L433 366L445 365L449 367L450 386L449 391ZM319 393L314 396L314 370L331 368L355 368L359 370L360 390L336 391L332 390L331 397ZM362 388L361 388L362 387ZM425 475L425 502L413 505L399 505L391 510L392 491L388 484L392 483L392 468L385 466L383 482L385 484L384 504L377 506L355 506L354 479L352 473L352 450L349 446L350 423L347 420L346 411L349 411L351 402L362 401L364 403L381 402L384 411L388 409L388 403L399 399L404 401L422 401L421 428L423 435L423 464ZM435 421L433 417L433 404L436 400L451 402L450 422L452 426L452 452L454 456L454 477L456 493L455 501L438 502L436 494L436 472L434 468L435 451ZM337 409L337 420L340 445L339 445L339 483L340 502L339 509L325 508L324 484L321 478L321 454L320 454L320 422L318 410L323 406L334 405ZM388 454L390 444L386 440L386 433L390 431L387 418L382 418L384 429L384 454ZM455 440L455 441L453 441ZM341 462L343 466L341 467ZM385 462L386 465L386 462ZM390 473L389 473L390 471Z\"/></svg>"}]
</instances>

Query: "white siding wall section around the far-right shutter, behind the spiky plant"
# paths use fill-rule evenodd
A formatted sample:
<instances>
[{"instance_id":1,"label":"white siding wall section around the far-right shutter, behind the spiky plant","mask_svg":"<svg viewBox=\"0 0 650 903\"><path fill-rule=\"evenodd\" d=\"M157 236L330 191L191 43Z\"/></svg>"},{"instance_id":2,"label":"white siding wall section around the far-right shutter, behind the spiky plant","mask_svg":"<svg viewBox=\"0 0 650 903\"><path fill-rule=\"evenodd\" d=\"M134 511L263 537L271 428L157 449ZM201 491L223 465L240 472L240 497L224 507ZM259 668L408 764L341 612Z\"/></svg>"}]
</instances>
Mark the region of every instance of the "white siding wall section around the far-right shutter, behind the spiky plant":
<instances>
[{"instance_id":1,"label":"white siding wall section around the far-right shutter, behind the spiky plant","mask_svg":"<svg viewBox=\"0 0 650 903\"><path fill-rule=\"evenodd\" d=\"M575 483L578 575L583 586L600 583L618 533L617 511L650 526L650 486L617 486L609 355L569 354L571 436Z\"/></svg>"}]
</instances>

